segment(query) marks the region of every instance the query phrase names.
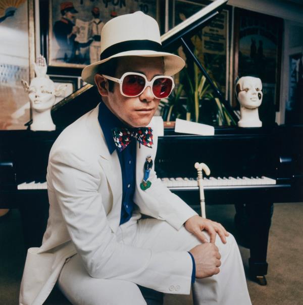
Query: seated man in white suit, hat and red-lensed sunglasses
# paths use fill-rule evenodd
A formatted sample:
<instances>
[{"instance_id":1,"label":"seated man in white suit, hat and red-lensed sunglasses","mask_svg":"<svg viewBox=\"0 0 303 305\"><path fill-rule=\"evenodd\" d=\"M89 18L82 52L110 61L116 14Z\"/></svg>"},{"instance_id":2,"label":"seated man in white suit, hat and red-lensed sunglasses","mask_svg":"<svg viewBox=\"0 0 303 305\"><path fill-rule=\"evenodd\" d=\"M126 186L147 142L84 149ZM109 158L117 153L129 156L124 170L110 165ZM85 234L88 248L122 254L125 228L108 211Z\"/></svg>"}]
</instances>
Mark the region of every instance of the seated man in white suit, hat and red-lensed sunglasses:
<instances>
[{"instance_id":1,"label":"seated man in white suit, hat and red-lensed sunglasses","mask_svg":"<svg viewBox=\"0 0 303 305\"><path fill-rule=\"evenodd\" d=\"M141 12L109 21L102 41L82 78L103 102L52 147L49 220L42 246L28 251L20 303L43 303L58 279L73 304L146 304L137 285L189 294L191 283L195 304L251 304L222 225L199 217L153 168L140 188L146 156L156 157L153 115L184 61L161 50L157 22Z\"/></svg>"}]
</instances>

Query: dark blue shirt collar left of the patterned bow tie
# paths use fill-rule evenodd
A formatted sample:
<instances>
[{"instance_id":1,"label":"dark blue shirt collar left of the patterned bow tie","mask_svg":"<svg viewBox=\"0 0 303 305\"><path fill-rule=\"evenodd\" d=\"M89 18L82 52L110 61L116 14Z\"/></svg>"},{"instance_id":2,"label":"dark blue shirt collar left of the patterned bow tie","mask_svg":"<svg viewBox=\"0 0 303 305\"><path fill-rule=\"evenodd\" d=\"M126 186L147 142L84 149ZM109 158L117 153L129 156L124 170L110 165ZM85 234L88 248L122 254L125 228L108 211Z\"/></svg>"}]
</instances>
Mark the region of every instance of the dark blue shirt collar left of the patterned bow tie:
<instances>
[{"instance_id":1,"label":"dark blue shirt collar left of the patterned bow tie","mask_svg":"<svg viewBox=\"0 0 303 305\"><path fill-rule=\"evenodd\" d=\"M98 121L102 128L110 154L113 154L117 146L113 138L112 129L115 127L125 127L125 125L108 109L103 101L99 106Z\"/></svg>"}]
</instances>

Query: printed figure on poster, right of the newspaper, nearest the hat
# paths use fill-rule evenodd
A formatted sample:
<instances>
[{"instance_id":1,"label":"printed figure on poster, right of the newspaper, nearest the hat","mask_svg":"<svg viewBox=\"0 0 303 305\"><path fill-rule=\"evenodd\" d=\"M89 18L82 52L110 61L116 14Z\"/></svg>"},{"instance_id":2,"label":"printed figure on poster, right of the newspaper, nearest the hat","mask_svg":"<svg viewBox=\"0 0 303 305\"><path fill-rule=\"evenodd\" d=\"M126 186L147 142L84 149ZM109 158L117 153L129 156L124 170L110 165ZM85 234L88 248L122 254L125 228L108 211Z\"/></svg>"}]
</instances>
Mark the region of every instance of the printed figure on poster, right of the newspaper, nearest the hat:
<instances>
[{"instance_id":1,"label":"printed figure on poster, right of the newspaper, nearest the hat","mask_svg":"<svg viewBox=\"0 0 303 305\"><path fill-rule=\"evenodd\" d=\"M93 20L91 21L91 39L92 42L89 45L89 58L90 63L98 61L101 52L101 31L104 27L104 22L100 20L99 8L93 8L91 10Z\"/></svg>"}]
</instances>

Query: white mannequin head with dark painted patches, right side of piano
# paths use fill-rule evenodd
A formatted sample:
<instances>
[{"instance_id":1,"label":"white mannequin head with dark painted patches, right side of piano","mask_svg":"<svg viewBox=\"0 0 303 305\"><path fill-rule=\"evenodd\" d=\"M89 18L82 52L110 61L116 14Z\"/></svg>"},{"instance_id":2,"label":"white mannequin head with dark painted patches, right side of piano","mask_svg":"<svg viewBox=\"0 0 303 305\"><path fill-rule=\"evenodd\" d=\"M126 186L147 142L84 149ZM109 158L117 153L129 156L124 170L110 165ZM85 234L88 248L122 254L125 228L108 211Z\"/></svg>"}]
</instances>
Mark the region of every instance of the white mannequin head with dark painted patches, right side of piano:
<instances>
[{"instance_id":1,"label":"white mannequin head with dark painted patches, right side of piano","mask_svg":"<svg viewBox=\"0 0 303 305\"><path fill-rule=\"evenodd\" d=\"M261 127L258 107L262 103L262 82L260 78L243 76L236 83L236 96L240 103L239 127Z\"/></svg>"}]
</instances>

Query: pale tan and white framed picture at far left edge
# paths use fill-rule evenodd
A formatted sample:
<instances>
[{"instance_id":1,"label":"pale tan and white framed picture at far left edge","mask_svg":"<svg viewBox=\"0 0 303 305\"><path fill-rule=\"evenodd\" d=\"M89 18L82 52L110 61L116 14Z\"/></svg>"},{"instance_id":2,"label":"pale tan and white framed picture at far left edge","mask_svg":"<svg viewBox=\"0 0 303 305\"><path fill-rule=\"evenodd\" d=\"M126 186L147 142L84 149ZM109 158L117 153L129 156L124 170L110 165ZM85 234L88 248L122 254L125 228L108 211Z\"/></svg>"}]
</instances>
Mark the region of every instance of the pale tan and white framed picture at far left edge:
<instances>
[{"instance_id":1,"label":"pale tan and white framed picture at far left edge","mask_svg":"<svg viewBox=\"0 0 303 305\"><path fill-rule=\"evenodd\" d=\"M25 129L28 95L21 80L34 77L34 2L3 2L0 7L0 129ZM22 47L20 47L20 45Z\"/></svg>"}]
</instances>

